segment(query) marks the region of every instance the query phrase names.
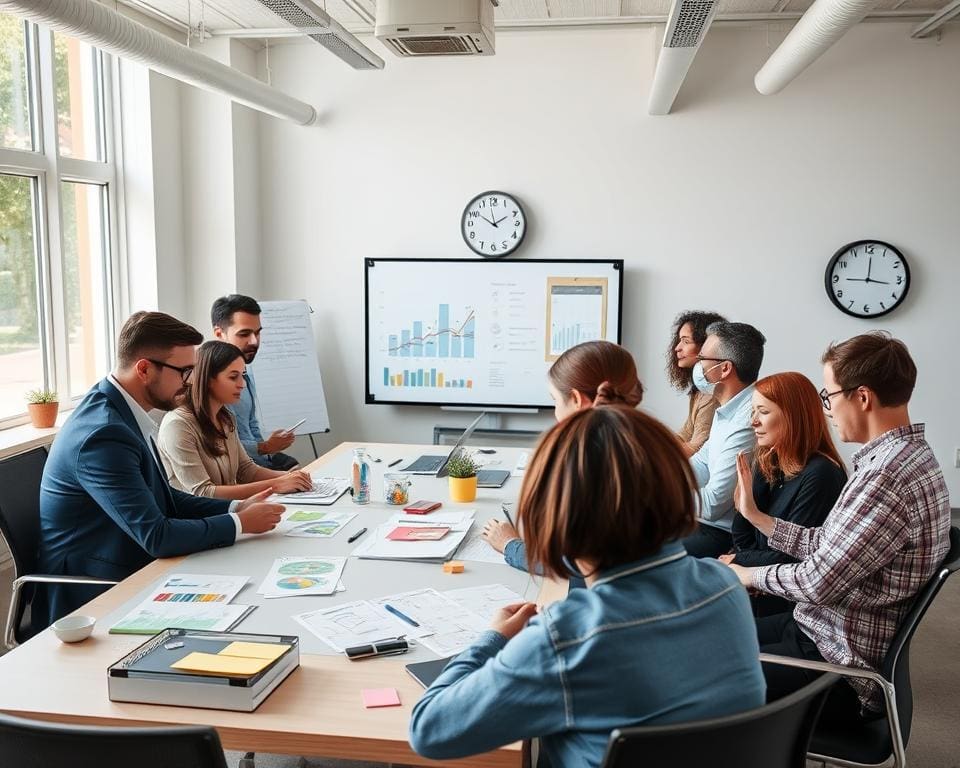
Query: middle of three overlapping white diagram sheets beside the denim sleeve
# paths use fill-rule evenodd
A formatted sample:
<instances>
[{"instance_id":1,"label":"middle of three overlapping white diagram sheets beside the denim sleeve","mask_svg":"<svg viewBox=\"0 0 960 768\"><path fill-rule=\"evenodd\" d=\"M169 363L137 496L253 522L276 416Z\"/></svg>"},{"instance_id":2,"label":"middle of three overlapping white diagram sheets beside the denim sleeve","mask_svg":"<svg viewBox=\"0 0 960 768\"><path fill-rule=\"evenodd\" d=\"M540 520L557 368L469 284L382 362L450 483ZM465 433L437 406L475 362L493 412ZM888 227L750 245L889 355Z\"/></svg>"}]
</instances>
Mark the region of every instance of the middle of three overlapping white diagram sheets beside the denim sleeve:
<instances>
[{"instance_id":1,"label":"middle of three overlapping white diagram sheets beside the denim sleeve","mask_svg":"<svg viewBox=\"0 0 960 768\"><path fill-rule=\"evenodd\" d=\"M426 633L420 642L439 656L460 653L489 628L483 617L435 589L401 592L371 602L390 605L417 622Z\"/></svg>"}]
</instances>

